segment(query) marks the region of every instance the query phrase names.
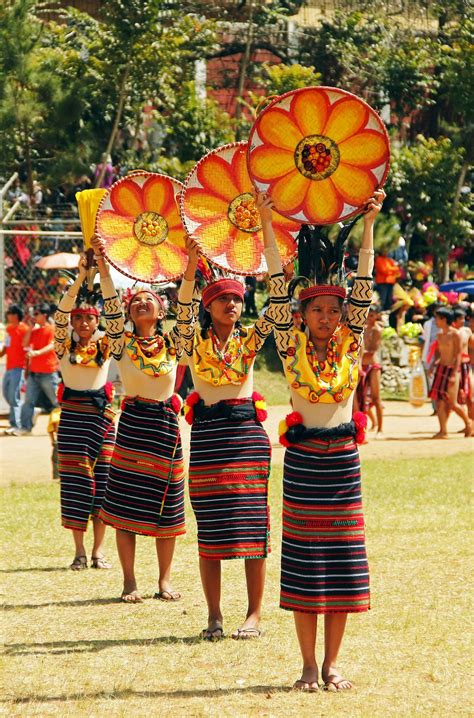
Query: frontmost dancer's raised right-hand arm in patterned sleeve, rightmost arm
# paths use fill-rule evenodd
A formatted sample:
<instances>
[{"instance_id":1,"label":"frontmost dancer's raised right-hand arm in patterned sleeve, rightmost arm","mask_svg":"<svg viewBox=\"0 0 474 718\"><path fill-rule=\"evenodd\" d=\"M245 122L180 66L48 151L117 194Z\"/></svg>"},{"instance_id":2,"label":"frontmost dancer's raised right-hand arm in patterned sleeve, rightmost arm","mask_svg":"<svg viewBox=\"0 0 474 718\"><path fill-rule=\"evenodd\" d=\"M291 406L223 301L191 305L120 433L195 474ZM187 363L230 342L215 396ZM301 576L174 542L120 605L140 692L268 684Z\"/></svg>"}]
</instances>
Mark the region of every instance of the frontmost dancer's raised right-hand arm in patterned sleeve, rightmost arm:
<instances>
[{"instance_id":1,"label":"frontmost dancer's raised right-hand arm in patterned sleeve, rightmost arm","mask_svg":"<svg viewBox=\"0 0 474 718\"><path fill-rule=\"evenodd\" d=\"M369 307L372 303L374 284L372 277L372 270L374 268L374 222L382 208L382 202L385 197L386 195L383 189L374 192L374 196L370 198L368 209L364 214L364 231L362 233L362 243L359 250L359 265L347 308L347 326L356 336L360 336L364 331L369 314Z\"/></svg>"}]
</instances>

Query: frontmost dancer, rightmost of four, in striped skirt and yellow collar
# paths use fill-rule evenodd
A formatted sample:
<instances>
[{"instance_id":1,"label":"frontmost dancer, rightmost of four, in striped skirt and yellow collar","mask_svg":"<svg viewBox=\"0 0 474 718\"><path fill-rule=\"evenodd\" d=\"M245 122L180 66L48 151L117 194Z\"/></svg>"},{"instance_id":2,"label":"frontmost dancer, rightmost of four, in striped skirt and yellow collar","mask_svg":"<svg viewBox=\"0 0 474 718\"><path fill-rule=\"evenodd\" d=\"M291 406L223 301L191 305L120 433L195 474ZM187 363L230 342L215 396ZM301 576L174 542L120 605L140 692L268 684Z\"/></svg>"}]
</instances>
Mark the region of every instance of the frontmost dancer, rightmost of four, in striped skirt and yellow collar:
<instances>
[{"instance_id":1,"label":"frontmost dancer, rightmost of four, in striped skirt and yellow collar","mask_svg":"<svg viewBox=\"0 0 474 718\"><path fill-rule=\"evenodd\" d=\"M318 690L318 614L324 614L325 619L321 676L326 690L337 691L352 687L336 666L347 615L369 609L355 443L356 434L360 441L363 431L360 426L356 431L352 421L352 402L361 335L371 303L373 224L384 197L382 190L375 192L364 215L358 275L347 318L342 319L345 289L328 283L341 278L342 268L332 267L338 277L324 277L317 266L318 284L299 295L304 331L291 328L289 302L287 328L276 327L276 343L295 409L281 427L281 442L288 448L283 480L280 606L294 612L303 658L301 678L294 688L305 691ZM271 233L269 223L264 231ZM300 270L302 254L300 241ZM328 267L331 261L321 265ZM319 283L324 279L325 283Z\"/></svg>"}]
</instances>

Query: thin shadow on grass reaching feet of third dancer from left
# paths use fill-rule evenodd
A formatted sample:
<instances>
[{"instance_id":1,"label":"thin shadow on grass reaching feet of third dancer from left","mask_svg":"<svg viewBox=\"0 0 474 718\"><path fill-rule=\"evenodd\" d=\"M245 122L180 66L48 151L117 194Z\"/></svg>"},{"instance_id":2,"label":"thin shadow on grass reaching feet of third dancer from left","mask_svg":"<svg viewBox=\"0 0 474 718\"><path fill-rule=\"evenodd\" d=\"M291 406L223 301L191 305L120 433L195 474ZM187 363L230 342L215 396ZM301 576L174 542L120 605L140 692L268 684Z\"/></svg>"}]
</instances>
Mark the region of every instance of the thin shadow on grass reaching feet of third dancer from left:
<instances>
[{"instance_id":1,"label":"thin shadow on grass reaching feet of third dancer from left","mask_svg":"<svg viewBox=\"0 0 474 718\"><path fill-rule=\"evenodd\" d=\"M126 638L105 641L49 641L46 643L7 643L4 653L9 656L54 655L63 653L98 653L117 646L154 646L165 643L184 643L196 645L202 643L200 636L157 636L156 638Z\"/></svg>"}]
</instances>

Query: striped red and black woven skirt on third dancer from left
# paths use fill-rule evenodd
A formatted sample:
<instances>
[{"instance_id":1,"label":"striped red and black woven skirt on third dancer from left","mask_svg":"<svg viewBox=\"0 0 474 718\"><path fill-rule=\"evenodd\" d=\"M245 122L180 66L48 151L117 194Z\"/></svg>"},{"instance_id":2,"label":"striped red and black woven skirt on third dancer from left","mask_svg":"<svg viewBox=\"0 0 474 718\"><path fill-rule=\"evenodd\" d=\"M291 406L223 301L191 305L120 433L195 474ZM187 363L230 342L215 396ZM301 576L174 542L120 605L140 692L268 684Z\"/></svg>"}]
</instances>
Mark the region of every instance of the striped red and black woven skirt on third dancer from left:
<instances>
[{"instance_id":1,"label":"striped red and black woven skirt on third dancer from left","mask_svg":"<svg viewBox=\"0 0 474 718\"><path fill-rule=\"evenodd\" d=\"M268 436L255 419L193 424L189 495L201 558L265 558L270 552L270 456Z\"/></svg>"}]
</instances>

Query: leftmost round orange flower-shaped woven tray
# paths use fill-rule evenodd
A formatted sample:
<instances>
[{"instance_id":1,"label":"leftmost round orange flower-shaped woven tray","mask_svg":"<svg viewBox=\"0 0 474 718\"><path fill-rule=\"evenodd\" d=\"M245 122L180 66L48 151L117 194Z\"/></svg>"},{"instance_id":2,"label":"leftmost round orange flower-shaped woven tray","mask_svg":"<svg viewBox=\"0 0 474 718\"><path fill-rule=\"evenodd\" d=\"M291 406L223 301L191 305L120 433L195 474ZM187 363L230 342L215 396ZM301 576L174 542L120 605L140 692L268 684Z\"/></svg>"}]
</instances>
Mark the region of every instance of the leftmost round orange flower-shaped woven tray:
<instances>
[{"instance_id":1,"label":"leftmost round orange flower-shaped woven tray","mask_svg":"<svg viewBox=\"0 0 474 718\"><path fill-rule=\"evenodd\" d=\"M183 185L152 172L134 172L112 185L97 213L96 231L109 262L142 282L170 281L187 265L175 197Z\"/></svg>"}]
</instances>

